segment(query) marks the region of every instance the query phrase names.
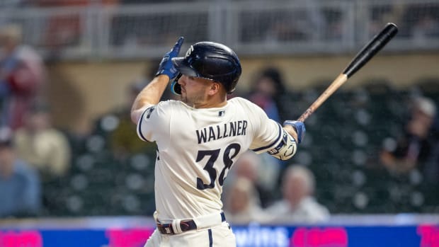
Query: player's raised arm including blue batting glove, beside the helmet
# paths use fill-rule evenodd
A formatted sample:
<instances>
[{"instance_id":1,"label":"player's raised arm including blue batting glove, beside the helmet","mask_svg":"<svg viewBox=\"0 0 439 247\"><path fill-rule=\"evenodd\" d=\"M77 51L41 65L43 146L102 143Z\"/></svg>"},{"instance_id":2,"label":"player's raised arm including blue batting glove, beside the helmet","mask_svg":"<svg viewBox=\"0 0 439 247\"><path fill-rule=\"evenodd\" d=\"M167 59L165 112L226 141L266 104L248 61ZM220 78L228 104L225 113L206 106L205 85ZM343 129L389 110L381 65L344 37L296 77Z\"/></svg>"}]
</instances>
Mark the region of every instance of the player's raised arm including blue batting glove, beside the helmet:
<instances>
[{"instance_id":1,"label":"player's raised arm including blue batting glove, beside the helmet","mask_svg":"<svg viewBox=\"0 0 439 247\"><path fill-rule=\"evenodd\" d=\"M139 117L145 109L160 102L160 98L166 90L169 81L178 75L178 71L173 66L171 59L178 56L182 44L183 37L180 37L173 48L169 52L166 52L163 59L161 59L156 77L140 91L134 103L132 103L131 120L135 124L139 122Z\"/></svg>"}]
</instances>

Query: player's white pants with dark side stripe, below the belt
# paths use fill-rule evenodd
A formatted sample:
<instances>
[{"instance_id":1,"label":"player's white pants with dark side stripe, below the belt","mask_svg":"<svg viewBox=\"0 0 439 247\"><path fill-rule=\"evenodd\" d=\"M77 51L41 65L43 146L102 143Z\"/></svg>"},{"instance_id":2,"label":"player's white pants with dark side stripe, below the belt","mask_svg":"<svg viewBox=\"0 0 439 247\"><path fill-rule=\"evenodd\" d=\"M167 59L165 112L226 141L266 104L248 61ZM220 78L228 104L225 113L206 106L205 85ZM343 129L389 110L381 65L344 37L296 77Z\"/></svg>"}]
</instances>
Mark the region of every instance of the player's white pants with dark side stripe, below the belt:
<instances>
[{"instance_id":1,"label":"player's white pants with dark side stripe, below the belt","mask_svg":"<svg viewBox=\"0 0 439 247\"><path fill-rule=\"evenodd\" d=\"M222 222L209 229L175 235L165 235L155 230L144 247L236 247L236 239L229 223Z\"/></svg>"}]
</instances>

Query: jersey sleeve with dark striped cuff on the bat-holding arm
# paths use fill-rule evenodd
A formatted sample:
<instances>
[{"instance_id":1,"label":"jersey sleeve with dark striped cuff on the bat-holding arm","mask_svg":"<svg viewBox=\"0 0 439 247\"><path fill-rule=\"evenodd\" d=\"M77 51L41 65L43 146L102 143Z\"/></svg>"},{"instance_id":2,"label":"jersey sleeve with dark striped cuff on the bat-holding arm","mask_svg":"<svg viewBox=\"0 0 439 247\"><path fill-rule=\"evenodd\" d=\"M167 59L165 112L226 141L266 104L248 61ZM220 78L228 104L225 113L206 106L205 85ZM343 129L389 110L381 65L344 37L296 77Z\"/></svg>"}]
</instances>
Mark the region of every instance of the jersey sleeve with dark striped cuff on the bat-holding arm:
<instances>
[{"instance_id":1,"label":"jersey sleeve with dark striped cuff on the bat-holding arm","mask_svg":"<svg viewBox=\"0 0 439 247\"><path fill-rule=\"evenodd\" d=\"M253 104L249 112L251 112L251 124L253 125L253 142L251 142L250 149L261 154L277 147L283 137L282 126L268 118L257 105Z\"/></svg>"}]
</instances>

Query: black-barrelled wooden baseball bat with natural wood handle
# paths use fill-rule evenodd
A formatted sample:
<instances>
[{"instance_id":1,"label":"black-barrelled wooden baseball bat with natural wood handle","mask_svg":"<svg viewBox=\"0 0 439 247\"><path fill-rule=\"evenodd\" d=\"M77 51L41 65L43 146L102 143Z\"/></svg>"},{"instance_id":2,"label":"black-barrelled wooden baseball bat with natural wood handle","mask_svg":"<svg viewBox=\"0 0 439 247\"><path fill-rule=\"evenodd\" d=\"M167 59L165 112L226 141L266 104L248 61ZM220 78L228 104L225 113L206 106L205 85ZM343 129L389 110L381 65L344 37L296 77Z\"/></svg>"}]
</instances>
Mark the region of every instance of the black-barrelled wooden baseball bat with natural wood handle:
<instances>
[{"instance_id":1,"label":"black-barrelled wooden baseball bat with natural wood handle","mask_svg":"<svg viewBox=\"0 0 439 247\"><path fill-rule=\"evenodd\" d=\"M379 52L384 45L387 44L394 35L398 33L397 25L394 23L387 23L385 27L375 35L372 40L370 40L363 49L355 55L352 61L348 64L348 67L343 70L341 74L337 76L335 80L326 88L326 90L321 93L319 98L309 106L307 110L297 119L298 121L304 122L312 113L314 113L319 106L325 102L329 96L332 95L341 85L343 85L346 81L348 81L349 77L355 74L356 71L361 69L369 60Z\"/></svg>"}]
</instances>

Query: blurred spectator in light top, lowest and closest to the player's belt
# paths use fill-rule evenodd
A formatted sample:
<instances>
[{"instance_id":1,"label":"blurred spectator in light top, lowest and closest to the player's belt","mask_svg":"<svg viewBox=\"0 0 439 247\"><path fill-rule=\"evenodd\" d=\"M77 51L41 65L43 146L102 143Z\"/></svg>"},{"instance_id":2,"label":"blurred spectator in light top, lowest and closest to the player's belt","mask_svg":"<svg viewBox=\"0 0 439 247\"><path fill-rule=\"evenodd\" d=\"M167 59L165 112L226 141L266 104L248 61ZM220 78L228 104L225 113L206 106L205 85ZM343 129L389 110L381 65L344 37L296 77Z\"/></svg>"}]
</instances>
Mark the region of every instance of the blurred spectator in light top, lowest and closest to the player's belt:
<instances>
[{"instance_id":1,"label":"blurred spectator in light top, lowest and closest to the player's belt","mask_svg":"<svg viewBox=\"0 0 439 247\"><path fill-rule=\"evenodd\" d=\"M238 177L225 194L224 213L232 224L267 222L269 217L258 202L258 195L251 180Z\"/></svg>"}]
</instances>

